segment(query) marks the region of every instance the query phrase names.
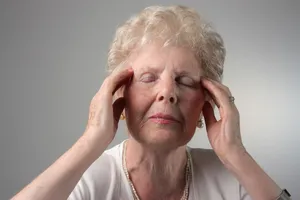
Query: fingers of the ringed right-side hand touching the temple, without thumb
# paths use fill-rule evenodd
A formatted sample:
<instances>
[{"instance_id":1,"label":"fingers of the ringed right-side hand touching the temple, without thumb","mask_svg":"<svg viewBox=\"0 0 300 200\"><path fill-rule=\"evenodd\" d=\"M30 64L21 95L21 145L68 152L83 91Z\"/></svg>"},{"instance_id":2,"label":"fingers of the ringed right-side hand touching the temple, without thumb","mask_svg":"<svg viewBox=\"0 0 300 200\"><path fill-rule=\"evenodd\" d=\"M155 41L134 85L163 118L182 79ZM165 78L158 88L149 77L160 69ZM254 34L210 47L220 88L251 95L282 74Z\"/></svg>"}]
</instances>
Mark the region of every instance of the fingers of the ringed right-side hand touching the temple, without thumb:
<instances>
[{"instance_id":1,"label":"fingers of the ringed right-side hand touching the temple, without thumb","mask_svg":"<svg viewBox=\"0 0 300 200\"><path fill-rule=\"evenodd\" d=\"M219 108L224 109L224 111L231 111L234 108L235 105L229 100L231 93L226 86L207 78L201 78L201 83L211 94Z\"/></svg>"}]
</instances>

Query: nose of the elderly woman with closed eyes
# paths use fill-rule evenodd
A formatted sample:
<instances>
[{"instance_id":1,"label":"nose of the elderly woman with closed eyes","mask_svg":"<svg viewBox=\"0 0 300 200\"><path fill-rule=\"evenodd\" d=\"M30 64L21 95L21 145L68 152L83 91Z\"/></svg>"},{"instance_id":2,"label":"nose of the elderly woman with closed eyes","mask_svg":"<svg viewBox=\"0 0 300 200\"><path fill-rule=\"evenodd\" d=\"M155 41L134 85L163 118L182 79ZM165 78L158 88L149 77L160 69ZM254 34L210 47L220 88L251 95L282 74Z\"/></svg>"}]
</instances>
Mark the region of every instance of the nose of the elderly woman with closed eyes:
<instances>
[{"instance_id":1,"label":"nose of the elderly woman with closed eyes","mask_svg":"<svg viewBox=\"0 0 300 200\"><path fill-rule=\"evenodd\" d=\"M158 101L168 101L171 104L176 104L178 97L176 95L175 82L168 78L168 80L160 80L161 84L158 87L157 100Z\"/></svg>"}]
</instances>

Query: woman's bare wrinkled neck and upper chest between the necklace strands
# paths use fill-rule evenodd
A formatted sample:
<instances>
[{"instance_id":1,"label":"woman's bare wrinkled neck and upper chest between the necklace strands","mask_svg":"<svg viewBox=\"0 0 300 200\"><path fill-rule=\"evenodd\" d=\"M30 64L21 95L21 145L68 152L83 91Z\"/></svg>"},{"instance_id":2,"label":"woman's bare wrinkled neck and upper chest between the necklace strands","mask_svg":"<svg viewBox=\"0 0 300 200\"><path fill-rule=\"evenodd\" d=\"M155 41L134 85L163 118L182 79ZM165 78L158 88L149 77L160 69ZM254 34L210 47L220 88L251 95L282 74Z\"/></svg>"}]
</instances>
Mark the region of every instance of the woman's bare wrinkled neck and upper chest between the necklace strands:
<instances>
[{"instance_id":1,"label":"woman's bare wrinkled neck and upper chest between the necklace strands","mask_svg":"<svg viewBox=\"0 0 300 200\"><path fill-rule=\"evenodd\" d=\"M157 149L133 138L125 146L126 167L141 199L180 199L186 182L186 147Z\"/></svg>"}]
</instances>

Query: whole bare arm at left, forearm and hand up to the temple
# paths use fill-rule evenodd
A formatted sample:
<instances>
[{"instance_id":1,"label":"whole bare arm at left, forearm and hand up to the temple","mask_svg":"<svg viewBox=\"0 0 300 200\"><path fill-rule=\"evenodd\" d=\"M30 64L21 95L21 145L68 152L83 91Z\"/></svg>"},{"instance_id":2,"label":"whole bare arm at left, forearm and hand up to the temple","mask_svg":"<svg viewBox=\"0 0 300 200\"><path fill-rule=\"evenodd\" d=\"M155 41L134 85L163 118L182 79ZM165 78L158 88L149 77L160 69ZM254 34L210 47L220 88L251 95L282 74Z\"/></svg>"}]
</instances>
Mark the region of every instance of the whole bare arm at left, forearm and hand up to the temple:
<instances>
[{"instance_id":1,"label":"whole bare arm at left, forearm and hand up to the temple","mask_svg":"<svg viewBox=\"0 0 300 200\"><path fill-rule=\"evenodd\" d=\"M115 137L124 109L124 99L113 102L118 88L133 75L131 68L116 70L93 97L86 131L54 164L20 191L13 200L67 199L86 169L104 152Z\"/></svg>"}]
</instances>

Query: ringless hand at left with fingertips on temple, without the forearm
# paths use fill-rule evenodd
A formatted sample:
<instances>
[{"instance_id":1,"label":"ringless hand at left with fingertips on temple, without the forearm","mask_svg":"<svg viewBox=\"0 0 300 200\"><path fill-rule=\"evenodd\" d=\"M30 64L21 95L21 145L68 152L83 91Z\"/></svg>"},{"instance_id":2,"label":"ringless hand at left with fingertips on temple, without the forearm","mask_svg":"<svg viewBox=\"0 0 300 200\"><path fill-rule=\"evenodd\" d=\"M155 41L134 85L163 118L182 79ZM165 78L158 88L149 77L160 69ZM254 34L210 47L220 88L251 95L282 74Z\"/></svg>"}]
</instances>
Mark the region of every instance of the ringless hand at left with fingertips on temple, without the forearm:
<instances>
[{"instance_id":1,"label":"ringless hand at left with fingertips on temple, without the forearm","mask_svg":"<svg viewBox=\"0 0 300 200\"><path fill-rule=\"evenodd\" d=\"M129 83L132 76L132 68L114 70L93 97L84 136L96 146L101 143L107 147L114 139L125 100L119 98L113 102L113 95L121 86Z\"/></svg>"}]
</instances>

